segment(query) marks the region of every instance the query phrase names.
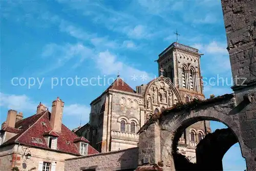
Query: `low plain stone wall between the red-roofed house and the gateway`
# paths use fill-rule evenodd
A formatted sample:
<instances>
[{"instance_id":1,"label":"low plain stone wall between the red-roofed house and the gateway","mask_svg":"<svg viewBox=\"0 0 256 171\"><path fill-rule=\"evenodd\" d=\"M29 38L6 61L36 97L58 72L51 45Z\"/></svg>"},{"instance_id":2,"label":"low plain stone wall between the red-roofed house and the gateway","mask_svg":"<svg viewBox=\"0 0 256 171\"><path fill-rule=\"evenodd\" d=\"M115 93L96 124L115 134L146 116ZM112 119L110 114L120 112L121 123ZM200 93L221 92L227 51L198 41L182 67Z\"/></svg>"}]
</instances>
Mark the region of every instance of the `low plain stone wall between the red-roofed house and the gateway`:
<instances>
[{"instance_id":1,"label":"low plain stone wall between the red-roofed house and the gateway","mask_svg":"<svg viewBox=\"0 0 256 171\"><path fill-rule=\"evenodd\" d=\"M65 161L65 171L135 169L138 163L138 148L107 152Z\"/></svg>"}]
</instances>

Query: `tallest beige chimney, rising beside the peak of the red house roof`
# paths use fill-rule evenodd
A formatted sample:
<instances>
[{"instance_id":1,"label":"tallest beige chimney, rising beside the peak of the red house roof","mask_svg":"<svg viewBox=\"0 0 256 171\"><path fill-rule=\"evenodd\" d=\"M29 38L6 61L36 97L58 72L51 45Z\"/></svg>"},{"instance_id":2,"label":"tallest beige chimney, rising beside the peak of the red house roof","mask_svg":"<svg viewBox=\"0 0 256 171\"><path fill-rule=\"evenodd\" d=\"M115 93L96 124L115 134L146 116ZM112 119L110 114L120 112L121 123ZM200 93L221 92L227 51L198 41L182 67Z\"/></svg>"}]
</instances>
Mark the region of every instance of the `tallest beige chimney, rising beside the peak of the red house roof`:
<instances>
[{"instance_id":1,"label":"tallest beige chimney, rising beside the peak of the red house roof","mask_svg":"<svg viewBox=\"0 0 256 171\"><path fill-rule=\"evenodd\" d=\"M63 107L64 107L64 102L62 102L59 99L59 97L57 97L57 99L52 102L50 124L51 124L52 130L55 132L61 132Z\"/></svg>"}]
</instances>

